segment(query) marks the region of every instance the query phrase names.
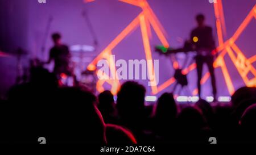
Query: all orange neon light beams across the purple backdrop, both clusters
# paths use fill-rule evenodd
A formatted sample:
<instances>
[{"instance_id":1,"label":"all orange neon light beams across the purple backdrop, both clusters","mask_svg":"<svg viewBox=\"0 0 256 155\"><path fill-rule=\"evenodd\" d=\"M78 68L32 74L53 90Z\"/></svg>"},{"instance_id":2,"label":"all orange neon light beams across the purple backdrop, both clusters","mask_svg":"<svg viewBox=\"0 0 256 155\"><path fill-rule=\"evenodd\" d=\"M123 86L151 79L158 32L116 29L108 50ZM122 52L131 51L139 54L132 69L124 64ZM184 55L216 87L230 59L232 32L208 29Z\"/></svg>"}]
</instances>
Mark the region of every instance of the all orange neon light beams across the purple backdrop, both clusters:
<instances>
[{"instance_id":1,"label":"all orange neon light beams across the purple backdrop, both clusters","mask_svg":"<svg viewBox=\"0 0 256 155\"><path fill-rule=\"evenodd\" d=\"M166 32L164 31L164 28L160 24L158 18L156 18L156 15L154 14L154 11L152 11L150 5L147 3L146 0L140 0L140 1L135 1L135 0L119 0L121 2L129 3L130 5L138 6L141 7L142 12L131 22L115 39L98 55L93 62L88 65L88 69L96 69L96 64L97 61L100 60L101 58L106 58L110 56L112 49L120 42L124 37L129 35L135 28L138 26L141 26L141 32L142 32L142 38L143 38L143 46L144 46L144 52L146 55L146 59L152 60L152 55L151 55L151 48L150 48L150 41L149 38L151 37L151 28L150 25L152 26L153 30L156 32L156 35L158 36L159 40L165 47L169 47L170 45L168 44L168 41L166 40ZM217 3L214 3L214 14L216 16L216 27L217 27L217 35L218 35L218 47L216 48L216 51L220 53L218 55L217 59L214 61L214 68L217 68L218 66L221 67L222 73L224 75L224 79L226 82L226 85L228 87L228 91L230 94L234 93L234 86L232 83L232 80L229 76L228 69L226 68L226 64L224 61L224 56L226 53L230 56L232 59L232 62L236 66L238 73L240 73L241 77L243 78L243 81L245 81L246 85L250 86L256 86L256 78L253 78L249 81L247 79L246 75L250 71L251 73L256 74L256 70L251 65L253 62L256 61L256 56L253 56L249 59L247 59L243 54L242 51L234 44L234 42L237 40L237 38L240 36L243 30L245 30L247 24L249 24L250 20L254 17L256 19L256 5L254 5L253 9L249 12L249 14L246 16L246 18L243 20L241 23L240 27L238 27L237 31L234 33L230 39L226 40L224 42L223 39L223 33L226 35L226 27L225 27L225 16L224 16L224 11L222 7L222 1L217 0ZM237 57L234 55L232 49L234 52L237 53ZM238 64L237 60L241 60L243 63ZM110 60L108 60L110 61ZM174 64L175 65L175 64ZM112 76L115 75L115 68L113 66L109 66L111 69ZM183 69L182 73L183 74L188 74L191 72L193 69L196 68L196 64L193 63L188 68ZM152 69L151 69L152 70ZM152 70L152 73L154 73L154 67ZM151 77L150 79L154 79ZM201 83L205 83L209 79L209 73L205 74L204 77L201 79ZM102 85L104 82L108 82L110 85L112 85L112 91L117 90L119 87L119 81L118 79L116 81L110 80L110 81L101 81L97 82L98 88L102 90ZM154 86L151 87L152 89L152 94L157 94L160 91L166 89L166 87L172 85L172 83L175 82L174 77L168 79L166 82L164 82L162 85L159 87ZM103 88L104 89L104 88ZM115 91L116 92L116 91ZM195 89L193 90L193 95L197 94L198 90Z\"/></svg>"}]
</instances>

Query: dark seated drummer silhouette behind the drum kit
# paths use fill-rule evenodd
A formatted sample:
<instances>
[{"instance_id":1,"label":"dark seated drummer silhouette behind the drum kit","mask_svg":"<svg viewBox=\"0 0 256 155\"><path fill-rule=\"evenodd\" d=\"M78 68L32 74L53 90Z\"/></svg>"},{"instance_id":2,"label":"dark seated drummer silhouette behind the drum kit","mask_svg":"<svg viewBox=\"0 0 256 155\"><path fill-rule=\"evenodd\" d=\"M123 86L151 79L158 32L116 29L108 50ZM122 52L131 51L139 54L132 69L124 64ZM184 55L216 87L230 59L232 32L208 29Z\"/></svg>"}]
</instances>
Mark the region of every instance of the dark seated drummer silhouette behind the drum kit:
<instances>
[{"instance_id":1,"label":"dark seated drummer silhouette behind the drum kit","mask_svg":"<svg viewBox=\"0 0 256 155\"><path fill-rule=\"evenodd\" d=\"M61 43L61 35L60 33L53 33L52 40L54 46L51 48L49 52L49 59L46 64L51 63L54 61L54 69L53 72L59 78L62 73L66 74L67 76L71 76L72 72L69 68L69 59L70 59L70 52L67 45Z\"/></svg>"}]
</instances>

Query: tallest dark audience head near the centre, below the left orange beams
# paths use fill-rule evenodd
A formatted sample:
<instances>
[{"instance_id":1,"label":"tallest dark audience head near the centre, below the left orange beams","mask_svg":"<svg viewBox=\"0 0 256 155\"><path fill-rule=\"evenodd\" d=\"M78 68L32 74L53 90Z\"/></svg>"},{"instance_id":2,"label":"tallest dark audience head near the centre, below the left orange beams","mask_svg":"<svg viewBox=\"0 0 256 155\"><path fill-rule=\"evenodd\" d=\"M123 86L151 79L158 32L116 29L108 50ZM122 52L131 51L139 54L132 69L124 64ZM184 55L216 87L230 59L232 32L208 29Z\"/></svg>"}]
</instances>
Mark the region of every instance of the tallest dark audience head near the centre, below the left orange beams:
<instances>
[{"instance_id":1,"label":"tallest dark audience head near the centre, below the left orange beams","mask_svg":"<svg viewBox=\"0 0 256 155\"><path fill-rule=\"evenodd\" d=\"M117 94L117 110L123 120L141 121L144 114L144 97L146 89L138 82L123 83Z\"/></svg>"}]
</instances>

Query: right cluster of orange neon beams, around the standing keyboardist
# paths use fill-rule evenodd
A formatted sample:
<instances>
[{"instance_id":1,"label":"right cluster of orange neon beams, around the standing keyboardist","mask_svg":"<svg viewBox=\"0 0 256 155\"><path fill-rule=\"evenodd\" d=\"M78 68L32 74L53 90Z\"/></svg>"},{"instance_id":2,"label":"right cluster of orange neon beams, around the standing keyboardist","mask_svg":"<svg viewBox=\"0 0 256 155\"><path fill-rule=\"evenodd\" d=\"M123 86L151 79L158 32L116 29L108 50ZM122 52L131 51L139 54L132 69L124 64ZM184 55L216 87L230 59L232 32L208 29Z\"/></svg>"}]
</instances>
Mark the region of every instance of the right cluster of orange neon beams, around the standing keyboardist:
<instances>
[{"instance_id":1,"label":"right cluster of orange neon beams, around the standing keyboardist","mask_svg":"<svg viewBox=\"0 0 256 155\"><path fill-rule=\"evenodd\" d=\"M216 48L216 50L217 50L217 52L220 52L220 55L218 55L218 58L214 61L214 68L217 68L218 66L221 67L222 73L224 74L224 79L225 79L226 85L228 87L229 94L233 94L234 93L234 86L233 86L233 83L232 83L232 79L229 76L228 69L226 68L225 61L224 61L224 56L227 53L226 47L231 46L234 49L234 51L238 51L238 47L236 46L236 44L234 44L234 42L240 36L241 32L246 28L247 24L249 24L249 22L253 18L253 16L256 18L256 5L250 11L250 13L246 16L245 20L243 20L242 24L237 29L237 31L234 33L233 37L226 40L225 43L224 43L223 34L222 34L222 30L225 31L225 19L224 19L224 13L223 13L223 9L222 9L221 0L218 0L217 3L214 3L214 13L215 13L215 16L216 16L216 26L217 26L217 35L218 35L218 43L219 43L219 46ZM233 54L231 52L229 52L229 53L230 53L230 55L233 56ZM242 54L242 52L240 52L240 55L241 54ZM256 61L256 56L251 57L247 61L250 62L250 65L249 65L250 67L249 68L250 68L251 73L254 74L256 71L255 71L254 67L251 65L251 63ZM234 57L233 57L233 63L235 64ZM191 70L193 70L196 67L195 64L192 64L191 66L193 66L193 68L191 68L190 70L188 68L184 69L183 73L188 74ZM243 68L243 69L245 69L245 68ZM240 72L240 74L242 75L242 72ZM208 78L209 77L207 75L205 75L204 80L206 81ZM170 78L169 81L172 81L171 79L172 78ZM247 86L248 85L256 86L256 78L253 78L251 81L247 81L246 83L247 83L246 84ZM172 83L170 83L170 82L169 83L168 82L163 83L161 85L161 90L163 88L165 89L167 86L169 86L171 84ZM196 95L197 93L198 93L198 90L195 89L193 91L193 95Z\"/></svg>"}]
</instances>

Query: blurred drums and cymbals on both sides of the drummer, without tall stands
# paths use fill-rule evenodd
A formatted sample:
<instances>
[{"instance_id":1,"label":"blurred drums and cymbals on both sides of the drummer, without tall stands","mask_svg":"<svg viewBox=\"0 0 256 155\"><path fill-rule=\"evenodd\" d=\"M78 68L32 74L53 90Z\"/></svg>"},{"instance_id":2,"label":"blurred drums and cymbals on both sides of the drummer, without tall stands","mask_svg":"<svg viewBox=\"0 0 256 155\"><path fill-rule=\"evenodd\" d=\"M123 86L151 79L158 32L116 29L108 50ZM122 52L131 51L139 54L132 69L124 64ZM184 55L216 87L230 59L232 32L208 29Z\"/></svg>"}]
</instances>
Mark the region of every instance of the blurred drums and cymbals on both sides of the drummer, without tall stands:
<instances>
[{"instance_id":1,"label":"blurred drums and cymbals on both sides of the drummer, without tall stands","mask_svg":"<svg viewBox=\"0 0 256 155\"><path fill-rule=\"evenodd\" d=\"M60 74L58 81L60 86L81 86L86 87L87 90L96 92L97 75L94 71L86 69L86 66L96 56L94 47L89 45L75 45L71 46L70 68L71 75ZM28 52L24 49L17 49L15 52L0 51L0 57L16 57L16 84L27 82L30 77L29 70L31 68L44 68L44 62L38 58L30 59L28 68L22 64L22 58L26 57Z\"/></svg>"}]
</instances>

